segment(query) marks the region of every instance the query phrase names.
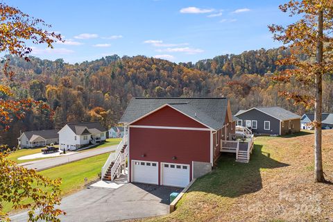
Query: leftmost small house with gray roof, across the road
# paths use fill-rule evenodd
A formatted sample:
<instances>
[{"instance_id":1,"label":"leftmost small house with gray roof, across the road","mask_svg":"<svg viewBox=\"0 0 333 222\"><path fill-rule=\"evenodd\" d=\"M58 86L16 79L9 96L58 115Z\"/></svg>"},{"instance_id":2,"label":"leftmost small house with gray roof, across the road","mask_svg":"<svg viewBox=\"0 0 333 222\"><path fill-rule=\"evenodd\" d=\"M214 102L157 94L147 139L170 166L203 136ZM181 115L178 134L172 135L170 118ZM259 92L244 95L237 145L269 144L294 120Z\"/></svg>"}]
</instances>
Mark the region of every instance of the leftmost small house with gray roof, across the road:
<instances>
[{"instance_id":1,"label":"leftmost small house with gray roof, across the road","mask_svg":"<svg viewBox=\"0 0 333 222\"><path fill-rule=\"evenodd\" d=\"M58 144L58 130L37 130L26 131L17 138L21 148L33 148L36 146L46 146L49 144Z\"/></svg>"}]
</instances>

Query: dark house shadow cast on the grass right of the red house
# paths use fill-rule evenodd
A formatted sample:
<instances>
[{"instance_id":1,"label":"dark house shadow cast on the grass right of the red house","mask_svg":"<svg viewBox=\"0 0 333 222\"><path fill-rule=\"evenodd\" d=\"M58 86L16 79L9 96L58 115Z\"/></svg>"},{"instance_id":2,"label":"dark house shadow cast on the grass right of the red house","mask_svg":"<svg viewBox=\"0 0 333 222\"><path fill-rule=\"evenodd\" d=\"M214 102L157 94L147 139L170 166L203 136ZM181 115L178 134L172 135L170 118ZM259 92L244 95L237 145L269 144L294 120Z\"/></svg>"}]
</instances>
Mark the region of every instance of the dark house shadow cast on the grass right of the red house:
<instances>
[{"instance_id":1,"label":"dark house shadow cast on the grass right of the red house","mask_svg":"<svg viewBox=\"0 0 333 222\"><path fill-rule=\"evenodd\" d=\"M235 162L234 153L223 153L216 169L198 178L190 191L231 198L254 193L262 189L260 171L288 166L289 164L273 160L270 153L262 151L262 145L255 144L248 164Z\"/></svg>"}]
</instances>

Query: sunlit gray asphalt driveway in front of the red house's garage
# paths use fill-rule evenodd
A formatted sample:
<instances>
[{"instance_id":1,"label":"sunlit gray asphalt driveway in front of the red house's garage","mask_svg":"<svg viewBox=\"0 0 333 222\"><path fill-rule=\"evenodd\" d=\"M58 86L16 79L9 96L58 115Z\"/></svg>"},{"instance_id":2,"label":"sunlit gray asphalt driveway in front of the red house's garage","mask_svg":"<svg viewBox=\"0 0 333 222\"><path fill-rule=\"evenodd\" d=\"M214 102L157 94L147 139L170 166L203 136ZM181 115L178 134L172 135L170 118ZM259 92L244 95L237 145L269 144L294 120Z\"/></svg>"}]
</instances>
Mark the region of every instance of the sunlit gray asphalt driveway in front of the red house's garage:
<instances>
[{"instance_id":1,"label":"sunlit gray asphalt driveway in front of the red house's garage","mask_svg":"<svg viewBox=\"0 0 333 222\"><path fill-rule=\"evenodd\" d=\"M67 212L61 221L121 221L160 216L169 213L169 196L180 192L176 187L128 183L118 189L89 187L62 199L61 210ZM26 221L23 212L10 217Z\"/></svg>"}]
</instances>

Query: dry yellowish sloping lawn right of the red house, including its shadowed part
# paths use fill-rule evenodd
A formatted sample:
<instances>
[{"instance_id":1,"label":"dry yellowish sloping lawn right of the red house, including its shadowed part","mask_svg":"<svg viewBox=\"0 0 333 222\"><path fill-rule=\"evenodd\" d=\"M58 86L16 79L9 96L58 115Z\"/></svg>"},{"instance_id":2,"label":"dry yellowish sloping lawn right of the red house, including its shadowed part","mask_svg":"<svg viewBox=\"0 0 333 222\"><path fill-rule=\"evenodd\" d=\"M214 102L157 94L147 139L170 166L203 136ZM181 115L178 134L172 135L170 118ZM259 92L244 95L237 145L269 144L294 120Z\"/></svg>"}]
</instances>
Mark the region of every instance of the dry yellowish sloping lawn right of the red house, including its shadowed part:
<instances>
[{"instance_id":1,"label":"dry yellowish sloping lawn right of the red house, including its shadowed part","mask_svg":"<svg viewBox=\"0 0 333 222\"><path fill-rule=\"evenodd\" d=\"M144 221L333 221L333 185L314 182L313 131L257 137L248 164L221 156L176 212ZM333 181L333 130L323 130L323 166Z\"/></svg>"}]
</instances>

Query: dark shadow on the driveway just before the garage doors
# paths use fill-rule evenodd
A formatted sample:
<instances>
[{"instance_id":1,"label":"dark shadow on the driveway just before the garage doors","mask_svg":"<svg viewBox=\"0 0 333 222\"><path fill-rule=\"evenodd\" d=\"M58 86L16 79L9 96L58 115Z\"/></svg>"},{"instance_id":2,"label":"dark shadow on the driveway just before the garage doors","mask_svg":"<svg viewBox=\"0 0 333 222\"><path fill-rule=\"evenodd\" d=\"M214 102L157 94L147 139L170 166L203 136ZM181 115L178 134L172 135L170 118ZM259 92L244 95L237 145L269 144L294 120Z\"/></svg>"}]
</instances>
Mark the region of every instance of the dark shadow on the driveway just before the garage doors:
<instances>
[{"instance_id":1,"label":"dark shadow on the driveway just before the garage doors","mask_svg":"<svg viewBox=\"0 0 333 222\"><path fill-rule=\"evenodd\" d=\"M180 193L182 189L180 187L167 187L167 186L159 186L159 185L148 185L139 182L132 182L133 185L139 187L140 189L144 189L144 191L157 196L161 199L160 203L170 204L170 194L173 192Z\"/></svg>"}]
</instances>

